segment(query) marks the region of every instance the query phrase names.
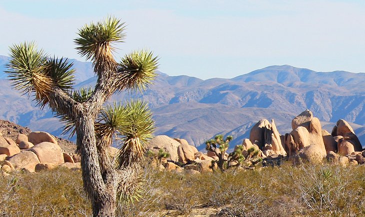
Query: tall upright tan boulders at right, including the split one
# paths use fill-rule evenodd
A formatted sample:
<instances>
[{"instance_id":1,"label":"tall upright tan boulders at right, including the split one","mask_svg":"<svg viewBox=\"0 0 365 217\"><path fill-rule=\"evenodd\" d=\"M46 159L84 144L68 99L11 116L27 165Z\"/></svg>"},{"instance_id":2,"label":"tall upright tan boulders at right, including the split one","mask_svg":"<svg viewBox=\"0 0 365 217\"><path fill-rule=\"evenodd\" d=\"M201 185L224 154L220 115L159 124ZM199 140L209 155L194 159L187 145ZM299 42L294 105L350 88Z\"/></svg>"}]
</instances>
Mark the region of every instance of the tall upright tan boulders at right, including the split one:
<instances>
[{"instance_id":1,"label":"tall upright tan boulders at right, including the split one","mask_svg":"<svg viewBox=\"0 0 365 217\"><path fill-rule=\"evenodd\" d=\"M365 152L351 126L344 120L337 121L331 133L321 128L318 118L305 110L291 121L292 131L280 135L274 122L260 120L255 124L249 141L261 150L263 158L287 156L299 163L322 162L327 158L335 164L363 164ZM244 140L243 143L247 143Z\"/></svg>"}]
</instances>

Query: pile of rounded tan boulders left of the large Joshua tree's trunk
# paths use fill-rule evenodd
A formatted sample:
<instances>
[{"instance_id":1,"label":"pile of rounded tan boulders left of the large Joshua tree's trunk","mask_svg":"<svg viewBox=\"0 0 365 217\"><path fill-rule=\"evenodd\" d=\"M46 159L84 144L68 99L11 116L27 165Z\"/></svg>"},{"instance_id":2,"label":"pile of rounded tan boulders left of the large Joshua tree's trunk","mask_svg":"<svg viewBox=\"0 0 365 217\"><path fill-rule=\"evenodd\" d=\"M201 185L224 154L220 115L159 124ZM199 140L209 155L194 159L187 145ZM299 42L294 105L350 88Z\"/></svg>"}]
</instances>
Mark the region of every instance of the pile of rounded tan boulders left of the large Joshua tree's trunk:
<instances>
[{"instance_id":1,"label":"pile of rounded tan boulders left of the large Joshua tree's trunk","mask_svg":"<svg viewBox=\"0 0 365 217\"><path fill-rule=\"evenodd\" d=\"M2 175L12 171L39 172L62 166L80 168L80 157L62 152L56 138L47 132L19 133L16 141L0 136Z\"/></svg>"}]
</instances>

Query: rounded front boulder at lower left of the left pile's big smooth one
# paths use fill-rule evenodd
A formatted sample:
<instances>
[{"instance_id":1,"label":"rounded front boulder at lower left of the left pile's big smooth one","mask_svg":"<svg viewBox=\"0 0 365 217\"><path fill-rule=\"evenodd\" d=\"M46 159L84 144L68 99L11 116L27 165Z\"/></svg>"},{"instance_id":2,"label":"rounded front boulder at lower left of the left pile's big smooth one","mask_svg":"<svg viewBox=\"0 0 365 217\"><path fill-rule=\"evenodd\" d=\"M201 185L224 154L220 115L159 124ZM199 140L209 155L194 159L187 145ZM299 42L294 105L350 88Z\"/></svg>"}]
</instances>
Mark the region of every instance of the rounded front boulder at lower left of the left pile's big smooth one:
<instances>
[{"instance_id":1,"label":"rounded front boulder at lower left of the left pile's big smooth one","mask_svg":"<svg viewBox=\"0 0 365 217\"><path fill-rule=\"evenodd\" d=\"M14 167L14 170L23 170L29 172L35 171L35 165L39 164L38 157L30 151L23 151L19 154L11 157L8 160L11 165Z\"/></svg>"}]
</instances>

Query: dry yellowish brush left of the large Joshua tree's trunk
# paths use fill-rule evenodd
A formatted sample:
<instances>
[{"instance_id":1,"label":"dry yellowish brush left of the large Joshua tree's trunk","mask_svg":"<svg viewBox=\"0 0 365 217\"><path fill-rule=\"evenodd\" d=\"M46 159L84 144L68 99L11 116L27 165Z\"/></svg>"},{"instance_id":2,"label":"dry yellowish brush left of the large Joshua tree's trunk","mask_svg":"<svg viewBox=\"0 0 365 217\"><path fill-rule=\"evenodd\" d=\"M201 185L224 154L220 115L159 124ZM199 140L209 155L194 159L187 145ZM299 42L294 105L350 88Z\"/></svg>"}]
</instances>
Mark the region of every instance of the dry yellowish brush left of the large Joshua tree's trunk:
<instances>
[{"instance_id":1,"label":"dry yellowish brush left of the large Joshua tree's trunk","mask_svg":"<svg viewBox=\"0 0 365 217\"><path fill-rule=\"evenodd\" d=\"M41 173L13 173L0 181L3 216L90 216L81 173L57 168Z\"/></svg>"}]
</instances>

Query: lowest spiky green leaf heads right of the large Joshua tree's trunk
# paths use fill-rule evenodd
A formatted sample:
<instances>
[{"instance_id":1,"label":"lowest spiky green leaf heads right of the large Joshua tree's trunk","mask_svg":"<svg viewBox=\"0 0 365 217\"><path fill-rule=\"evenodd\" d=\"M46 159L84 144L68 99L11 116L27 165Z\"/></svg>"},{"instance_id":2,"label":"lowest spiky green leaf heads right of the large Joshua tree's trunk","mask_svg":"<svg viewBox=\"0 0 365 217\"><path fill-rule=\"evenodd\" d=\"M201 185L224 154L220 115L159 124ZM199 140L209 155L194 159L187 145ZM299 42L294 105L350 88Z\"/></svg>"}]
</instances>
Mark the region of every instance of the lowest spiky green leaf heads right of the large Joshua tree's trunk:
<instances>
[{"instance_id":1,"label":"lowest spiky green leaf heads right of the large Joshua tree's trunk","mask_svg":"<svg viewBox=\"0 0 365 217\"><path fill-rule=\"evenodd\" d=\"M107 105L101 110L95 130L100 138L116 133L122 147L118 153L118 168L138 162L144 153L143 145L154 132L152 114L145 102Z\"/></svg>"}]
</instances>

